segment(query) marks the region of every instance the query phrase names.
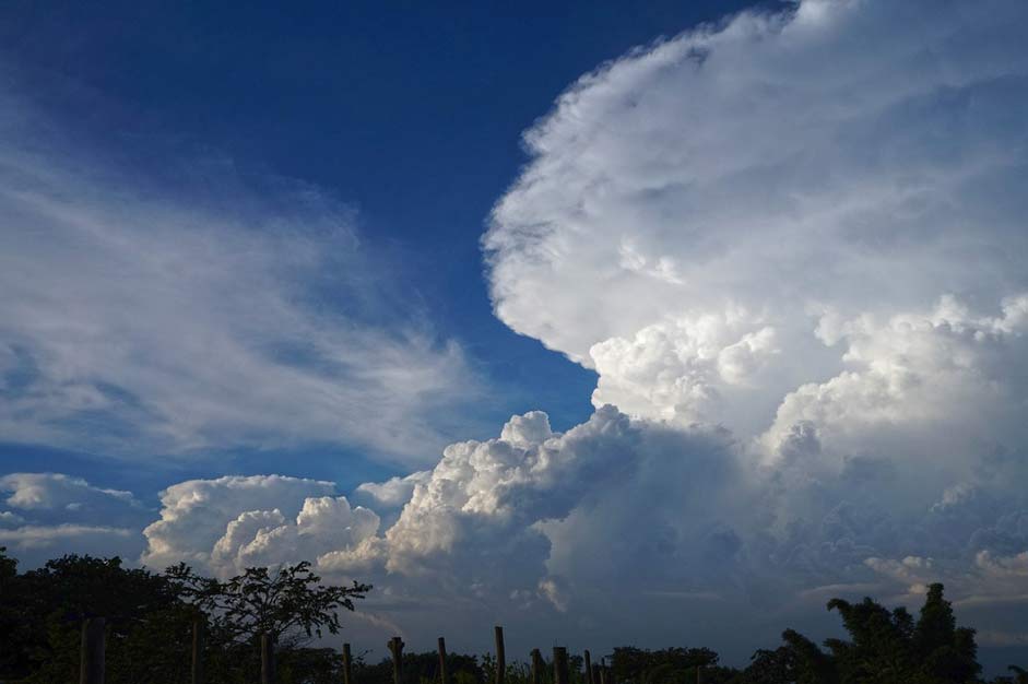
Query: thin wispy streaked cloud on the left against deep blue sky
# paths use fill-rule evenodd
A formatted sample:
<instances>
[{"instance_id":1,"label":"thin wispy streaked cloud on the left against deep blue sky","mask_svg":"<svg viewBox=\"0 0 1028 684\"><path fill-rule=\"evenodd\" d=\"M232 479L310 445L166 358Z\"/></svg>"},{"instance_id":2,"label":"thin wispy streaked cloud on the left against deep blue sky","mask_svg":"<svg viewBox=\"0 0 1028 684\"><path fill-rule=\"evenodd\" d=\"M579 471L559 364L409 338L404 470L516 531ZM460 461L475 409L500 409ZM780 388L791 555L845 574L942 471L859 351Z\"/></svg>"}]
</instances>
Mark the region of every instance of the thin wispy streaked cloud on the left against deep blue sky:
<instances>
[{"instance_id":1,"label":"thin wispy streaked cloud on the left against deep blue sky","mask_svg":"<svg viewBox=\"0 0 1028 684\"><path fill-rule=\"evenodd\" d=\"M446 444L478 382L381 276L394 264L351 207L156 138L159 173L105 158L5 89L4 439L126 458L330 443L407 462Z\"/></svg>"}]
</instances>

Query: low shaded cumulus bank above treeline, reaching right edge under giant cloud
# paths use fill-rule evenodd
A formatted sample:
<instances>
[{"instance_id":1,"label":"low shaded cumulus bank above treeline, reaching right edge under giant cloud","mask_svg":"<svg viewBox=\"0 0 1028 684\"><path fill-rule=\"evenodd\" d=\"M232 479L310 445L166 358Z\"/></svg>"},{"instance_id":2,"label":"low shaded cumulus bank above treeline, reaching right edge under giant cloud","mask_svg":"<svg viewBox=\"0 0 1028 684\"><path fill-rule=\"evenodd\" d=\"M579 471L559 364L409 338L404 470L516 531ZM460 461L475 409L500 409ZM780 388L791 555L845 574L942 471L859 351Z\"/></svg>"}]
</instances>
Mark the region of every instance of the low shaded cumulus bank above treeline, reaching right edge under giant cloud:
<instances>
[{"instance_id":1,"label":"low shaded cumulus bank above treeline, reaching right edge under giant cloud","mask_svg":"<svg viewBox=\"0 0 1028 684\"><path fill-rule=\"evenodd\" d=\"M772 644L829 595L913 604L943 580L970 610L1026 593L1028 516L1009 487L955 484L903 507L896 492L912 481L891 461L853 458L803 479L790 471L799 458L755 467L725 429L611 406L563 434L531 412L496 439L448 447L385 528L328 482L174 485L144 530L143 562L225 576L310 559L330 580L374 583L362 610L411 639L434 635L445 610L448 634L462 639L483 621L542 640L587 629L601 644L657 639L674 624L728 657ZM755 606L741 635L732 616Z\"/></svg>"}]
</instances>

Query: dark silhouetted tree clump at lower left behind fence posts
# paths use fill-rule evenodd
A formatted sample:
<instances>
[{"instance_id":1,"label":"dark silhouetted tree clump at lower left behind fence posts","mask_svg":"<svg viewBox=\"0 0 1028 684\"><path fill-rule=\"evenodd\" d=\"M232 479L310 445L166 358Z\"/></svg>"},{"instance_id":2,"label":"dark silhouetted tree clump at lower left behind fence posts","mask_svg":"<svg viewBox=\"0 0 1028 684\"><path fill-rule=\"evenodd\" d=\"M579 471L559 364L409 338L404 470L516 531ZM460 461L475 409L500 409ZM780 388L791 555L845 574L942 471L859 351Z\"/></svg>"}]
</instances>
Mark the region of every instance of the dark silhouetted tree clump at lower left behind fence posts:
<instances>
[{"instance_id":1,"label":"dark silhouetted tree clump at lower left behind fence posts","mask_svg":"<svg viewBox=\"0 0 1028 684\"><path fill-rule=\"evenodd\" d=\"M157 574L126 568L120 558L68 555L19 574L0 549L0 681L78 681L82 621L103 616L110 684L188 682L194 623L206 637L209 681L256 681L255 642L267 630L281 641L283 684L329 682L338 658L303 642L322 630L338 634L339 612L354 610L368 590L321 586L307 563L276 573L248 568L221 582L186 566Z\"/></svg>"}]
</instances>

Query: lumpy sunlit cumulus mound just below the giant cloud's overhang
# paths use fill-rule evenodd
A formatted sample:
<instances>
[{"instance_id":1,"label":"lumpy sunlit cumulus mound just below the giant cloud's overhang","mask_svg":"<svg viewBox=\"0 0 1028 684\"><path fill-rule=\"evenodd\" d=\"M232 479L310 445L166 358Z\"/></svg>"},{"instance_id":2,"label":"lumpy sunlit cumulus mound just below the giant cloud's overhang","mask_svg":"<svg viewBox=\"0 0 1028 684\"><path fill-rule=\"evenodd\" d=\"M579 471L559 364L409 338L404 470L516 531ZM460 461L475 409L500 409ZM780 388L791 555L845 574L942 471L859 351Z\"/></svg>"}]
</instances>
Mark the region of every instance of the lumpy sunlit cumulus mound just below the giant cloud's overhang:
<instances>
[{"instance_id":1,"label":"lumpy sunlit cumulus mound just below the giant cloud's overhang","mask_svg":"<svg viewBox=\"0 0 1028 684\"><path fill-rule=\"evenodd\" d=\"M533 412L513 417L499 439L450 445L386 533L387 568L413 573L434 563L448 570L463 566L481 585L507 579L508 563L541 565L548 544L533 526L563 518L596 481L631 469L635 440L626 416L606 408L565 435L551 432L546 415ZM499 557L465 562L475 547L497 543L506 547ZM534 547L539 555L508 557L516 547ZM535 578L530 581L535 585Z\"/></svg>"}]
</instances>

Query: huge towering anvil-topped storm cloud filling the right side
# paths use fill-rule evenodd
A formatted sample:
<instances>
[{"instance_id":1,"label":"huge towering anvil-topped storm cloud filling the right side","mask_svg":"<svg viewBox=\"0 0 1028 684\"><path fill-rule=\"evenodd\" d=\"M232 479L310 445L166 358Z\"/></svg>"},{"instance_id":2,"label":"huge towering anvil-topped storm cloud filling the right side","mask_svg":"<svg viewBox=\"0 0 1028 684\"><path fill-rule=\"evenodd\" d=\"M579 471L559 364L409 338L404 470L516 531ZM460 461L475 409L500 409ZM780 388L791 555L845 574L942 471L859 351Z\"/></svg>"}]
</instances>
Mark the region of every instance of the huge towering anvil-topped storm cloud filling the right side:
<instances>
[{"instance_id":1,"label":"huge towering anvil-topped storm cloud filling the right side","mask_svg":"<svg viewBox=\"0 0 1028 684\"><path fill-rule=\"evenodd\" d=\"M737 440L721 453L761 516L683 514L732 520L711 539L734 569L700 554L677 578L694 595L1028 587L1026 20L747 12L602 66L525 133L483 238L497 316L595 369L596 406ZM607 496L627 508L633 485ZM652 500L642 519L674 509ZM545 523L551 567L608 526L584 506Z\"/></svg>"}]
</instances>

